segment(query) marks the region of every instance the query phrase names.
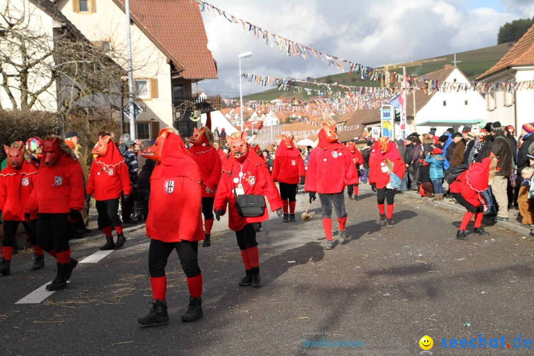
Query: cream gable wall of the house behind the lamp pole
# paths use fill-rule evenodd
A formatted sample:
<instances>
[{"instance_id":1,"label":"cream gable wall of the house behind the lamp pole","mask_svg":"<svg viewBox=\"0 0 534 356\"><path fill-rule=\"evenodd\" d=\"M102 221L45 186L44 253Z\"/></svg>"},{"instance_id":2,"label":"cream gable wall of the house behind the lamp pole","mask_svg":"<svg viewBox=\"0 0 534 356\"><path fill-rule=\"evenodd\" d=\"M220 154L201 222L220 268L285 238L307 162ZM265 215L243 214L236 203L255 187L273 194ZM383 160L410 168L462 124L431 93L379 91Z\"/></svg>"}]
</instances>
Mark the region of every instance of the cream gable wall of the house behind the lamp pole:
<instances>
[{"instance_id":1,"label":"cream gable wall of the house behind the lamp pole","mask_svg":"<svg viewBox=\"0 0 534 356\"><path fill-rule=\"evenodd\" d=\"M73 1L59 0L56 4L61 12L92 42L109 41L112 45L112 59L127 69L126 15L112 0L93 0L96 12L74 12ZM170 65L167 57L148 38L143 31L131 23L132 67L134 79L157 79L157 96L155 88L148 88L149 97L135 99L143 109L136 123L151 123L151 137L159 130L172 125L172 86ZM150 84L148 85L150 87ZM185 88L186 86L184 86ZM128 117L125 117L128 120ZM128 122L126 123L128 125Z\"/></svg>"}]
</instances>

